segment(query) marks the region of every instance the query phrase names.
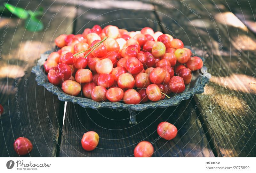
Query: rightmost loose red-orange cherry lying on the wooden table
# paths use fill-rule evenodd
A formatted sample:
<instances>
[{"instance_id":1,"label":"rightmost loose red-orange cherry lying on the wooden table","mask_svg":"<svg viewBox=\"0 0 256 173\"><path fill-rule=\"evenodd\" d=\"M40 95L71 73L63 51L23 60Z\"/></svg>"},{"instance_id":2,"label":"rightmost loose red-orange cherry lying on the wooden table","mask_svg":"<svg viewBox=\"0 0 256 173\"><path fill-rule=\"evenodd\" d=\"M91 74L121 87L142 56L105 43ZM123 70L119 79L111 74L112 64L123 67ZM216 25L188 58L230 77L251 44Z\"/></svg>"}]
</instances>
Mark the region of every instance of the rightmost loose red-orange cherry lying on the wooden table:
<instances>
[{"instance_id":1,"label":"rightmost loose red-orange cherry lying on the wooden table","mask_svg":"<svg viewBox=\"0 0 256 173\"><path fill-rule=\"evenodd\" d=\"M161 122L157 126L158 135L166 140L171 140L175 138L177 135L177 132L178 132L177 128L168 122Z\"/></svg>"}]
</instances>

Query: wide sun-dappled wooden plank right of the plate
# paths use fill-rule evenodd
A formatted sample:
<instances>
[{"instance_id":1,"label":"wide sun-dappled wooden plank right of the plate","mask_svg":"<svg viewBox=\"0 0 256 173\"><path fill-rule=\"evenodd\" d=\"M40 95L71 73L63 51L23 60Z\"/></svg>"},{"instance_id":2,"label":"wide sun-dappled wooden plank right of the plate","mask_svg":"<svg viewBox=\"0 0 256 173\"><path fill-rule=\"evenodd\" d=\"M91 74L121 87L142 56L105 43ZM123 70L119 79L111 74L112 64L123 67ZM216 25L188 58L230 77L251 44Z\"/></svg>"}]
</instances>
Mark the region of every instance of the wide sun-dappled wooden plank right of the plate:
<instances>
[{"instance_id":1,"label":"wide sun-dappled wooden plank right of the plate","mask_svg":"<svg viewBox=\"0 0 256 173\"><path fill-rule=\"evenodd\" d=\"M204 94L194 98L214 153L219 157L256 156L255 35L222 1L169 3L155 4L159 18L204 57L212 74Z\"/></svg>"}]
</instances>

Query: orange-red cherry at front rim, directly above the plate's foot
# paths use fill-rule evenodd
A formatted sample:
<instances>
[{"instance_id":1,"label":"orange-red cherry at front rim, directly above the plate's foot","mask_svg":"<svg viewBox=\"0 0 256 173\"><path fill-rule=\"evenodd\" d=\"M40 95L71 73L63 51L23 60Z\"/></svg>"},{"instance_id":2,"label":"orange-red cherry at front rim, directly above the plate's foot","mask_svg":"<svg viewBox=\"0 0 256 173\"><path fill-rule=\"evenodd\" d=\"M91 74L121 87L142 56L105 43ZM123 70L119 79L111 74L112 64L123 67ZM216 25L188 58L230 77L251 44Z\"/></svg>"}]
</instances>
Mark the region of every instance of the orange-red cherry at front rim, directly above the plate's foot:
<instances>
[{"instance_id":1,"label":"orange-red cherry at front rim, directly above the plate's foot","mask_svg":"<svg viewBox=\"0 0 256 173\"><path fill-rule=\"evenodd\" d=\"M141 96L135 89L128 89L124 92L123 101L125 104L139 104Z\"/></svg>"}]
</instances>

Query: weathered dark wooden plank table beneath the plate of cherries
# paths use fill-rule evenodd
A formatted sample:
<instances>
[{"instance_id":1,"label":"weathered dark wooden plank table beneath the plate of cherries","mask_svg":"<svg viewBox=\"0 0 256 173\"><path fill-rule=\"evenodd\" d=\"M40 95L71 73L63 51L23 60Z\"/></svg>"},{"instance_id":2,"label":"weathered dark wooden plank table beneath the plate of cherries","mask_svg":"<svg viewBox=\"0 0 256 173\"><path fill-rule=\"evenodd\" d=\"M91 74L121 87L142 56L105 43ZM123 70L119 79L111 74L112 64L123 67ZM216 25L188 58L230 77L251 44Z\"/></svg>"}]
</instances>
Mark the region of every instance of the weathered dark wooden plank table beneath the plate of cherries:
<instances>
[{"instance_id":1,"label":"weathered dark wooden plank table beneath the plate of cherries","mask_svg":"<svg viewBox=\"0 0 256 173\"><path fill-rule=\"evenodd\" d=\"M46 31L33 33L24 29L23 20L0 18L0 33L5 33L0 156L17 157L12 144L20 136L34 145L28 157L129 157L141 140L154 142L155 157L256 156L255 2L44 0L17 5L44 7L44 26L52 21ZM204 57L212 75L205 92L177 107L140 112L136 125L128 123L128 111L84 109L71 102L63 117L64 102L37 86L31 68L41 53L54 47L58 35L80 34L95 24L129 31L149 26L181 39ZM177 126L175 139L157 139L156 127L162 121ZM81 147L87 131L100 135L99 148L92 152Z\"/></svg>"}]
</instances>

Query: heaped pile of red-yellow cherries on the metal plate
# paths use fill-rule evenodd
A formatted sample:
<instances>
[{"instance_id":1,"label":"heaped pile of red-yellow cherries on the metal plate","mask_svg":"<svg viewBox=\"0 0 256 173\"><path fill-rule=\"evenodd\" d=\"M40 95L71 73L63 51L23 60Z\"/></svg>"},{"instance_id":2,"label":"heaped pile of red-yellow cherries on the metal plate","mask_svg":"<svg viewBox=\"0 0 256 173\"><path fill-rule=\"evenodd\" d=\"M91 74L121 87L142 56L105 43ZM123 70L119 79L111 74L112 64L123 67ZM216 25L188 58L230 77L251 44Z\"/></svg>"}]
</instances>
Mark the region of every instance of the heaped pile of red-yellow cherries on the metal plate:
<instances>
[{"instance_id":1,"label":"heaped pile of red-yellow cherries on the metal plate","mask_svg":"<svg viewBox=\"0 0 256 173\"><path fill-rule=\"evenodd\" d=\"M183 92L191 71L203 67L181 40L149 27L128 32L95 25L83 34L62 34L55 43L60 49L44 63L48 80L69 95L82 91L97 102L156 102Z\"/></svg>"}]
</instances>

